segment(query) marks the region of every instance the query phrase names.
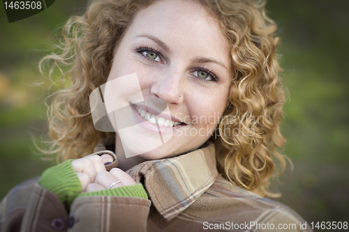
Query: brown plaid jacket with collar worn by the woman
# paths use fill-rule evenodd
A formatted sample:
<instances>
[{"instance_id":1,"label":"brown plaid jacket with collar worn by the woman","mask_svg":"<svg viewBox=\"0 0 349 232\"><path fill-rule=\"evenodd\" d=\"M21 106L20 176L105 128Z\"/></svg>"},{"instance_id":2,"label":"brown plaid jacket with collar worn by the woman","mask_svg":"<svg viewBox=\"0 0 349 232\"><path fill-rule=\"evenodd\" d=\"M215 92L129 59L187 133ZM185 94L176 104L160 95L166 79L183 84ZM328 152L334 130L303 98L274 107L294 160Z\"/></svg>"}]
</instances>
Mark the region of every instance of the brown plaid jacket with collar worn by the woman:
<instances>
[{"instance_id":1,"label":"brown plaid jacket with collar worn by the woman","mask_svg":"<svg viewBox=\"0 0 349 232\"><path fill-rule=\"evenodd\" d=\"M104 139L95 152L111 148ZM149 199L83 196L66 211L58 197L27 180L0 204L0 231L311 231L281 203L236 187L218 175L214 145L138 164Z\"/></svg>"}]
</instances>

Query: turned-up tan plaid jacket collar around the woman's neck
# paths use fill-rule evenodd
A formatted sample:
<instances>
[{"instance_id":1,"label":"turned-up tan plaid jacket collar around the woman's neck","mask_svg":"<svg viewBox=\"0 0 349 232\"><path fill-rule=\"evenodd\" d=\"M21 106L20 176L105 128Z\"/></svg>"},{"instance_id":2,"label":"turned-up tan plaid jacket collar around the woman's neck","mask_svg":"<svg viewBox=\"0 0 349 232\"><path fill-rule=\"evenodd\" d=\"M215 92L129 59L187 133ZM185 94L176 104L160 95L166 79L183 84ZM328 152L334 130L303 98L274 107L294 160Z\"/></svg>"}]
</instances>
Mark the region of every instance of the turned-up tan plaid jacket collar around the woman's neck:
<instances>
[{"instance_id":1,"label":"turned-up tan plaid jacket collar around the woman's neck","mask_svg":"<svg viewBox=\"0 0 349 232\"><path fill-rule=\"evenodd\" d=\"M114 150L114 143L115 137L101 139L94 151ZM218 176L214 144L177 157L142 162L126 173L136 182L138 174L144 176L151 202L170 221L214 183Z\"/></svg>"}]
</instances>

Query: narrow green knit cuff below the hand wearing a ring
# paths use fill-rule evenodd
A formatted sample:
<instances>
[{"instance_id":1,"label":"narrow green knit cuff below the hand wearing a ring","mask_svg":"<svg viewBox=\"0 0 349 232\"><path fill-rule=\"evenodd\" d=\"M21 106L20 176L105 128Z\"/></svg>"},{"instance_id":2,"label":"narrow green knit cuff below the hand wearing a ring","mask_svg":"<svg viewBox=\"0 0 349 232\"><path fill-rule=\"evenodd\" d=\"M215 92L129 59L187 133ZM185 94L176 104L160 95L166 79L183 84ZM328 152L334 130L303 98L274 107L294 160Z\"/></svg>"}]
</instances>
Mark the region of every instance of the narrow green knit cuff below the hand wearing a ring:
<instances>
[{"instance_id":1,"label":"narrow green knit cuff below the hand wearing a ring","mask_svg":"<svg viewBox=\"0 0 349 232\"><path fill-rule=\"evenodd\" d=\"M147 192L145 192L144 187L141 183L139 183L138 185L115 187L110 190L84 192L78 195L78 197L80 196L131 196L148 199Z\"/></svg>"}]
</instances>

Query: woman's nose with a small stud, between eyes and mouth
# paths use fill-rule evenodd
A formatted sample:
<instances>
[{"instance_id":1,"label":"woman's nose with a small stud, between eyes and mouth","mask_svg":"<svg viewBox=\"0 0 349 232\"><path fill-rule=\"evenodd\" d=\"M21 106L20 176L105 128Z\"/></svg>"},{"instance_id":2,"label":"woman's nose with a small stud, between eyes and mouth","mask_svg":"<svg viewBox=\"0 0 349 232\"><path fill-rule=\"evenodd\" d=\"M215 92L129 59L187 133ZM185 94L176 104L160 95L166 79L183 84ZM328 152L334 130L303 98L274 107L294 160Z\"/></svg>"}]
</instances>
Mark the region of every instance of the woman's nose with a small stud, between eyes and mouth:
<instances>
[{"instance_id":1,"label":"woman's nose with a small stud, between eyes and mouth","mask_svg":"<svg viewBox=\"0 0 349 232\"><path fill-rule=\"evenodd\" d=\"M151 86L151 93L157 98L168 102L168 104L181 104L184 100L183 84L184 75L180 72L168 72L170 75L163 75L158 77L156 82Z\"/></svg>"}]
</instances>

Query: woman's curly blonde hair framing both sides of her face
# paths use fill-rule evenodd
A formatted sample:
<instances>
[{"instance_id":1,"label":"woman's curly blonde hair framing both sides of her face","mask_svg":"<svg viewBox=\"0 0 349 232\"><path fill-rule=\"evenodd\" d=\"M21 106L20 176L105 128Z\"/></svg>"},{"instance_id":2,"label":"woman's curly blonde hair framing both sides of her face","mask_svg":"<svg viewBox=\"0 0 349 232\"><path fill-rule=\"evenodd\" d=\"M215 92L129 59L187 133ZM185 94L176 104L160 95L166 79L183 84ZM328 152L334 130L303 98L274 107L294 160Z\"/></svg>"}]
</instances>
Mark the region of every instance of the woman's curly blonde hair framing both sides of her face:
<instances>
[{"instance_id":1,"label":"woman's curly blonde hair framing both sides of her face","mask_svg":"<svg viewBox=\"0 0 349 232\"><path fill-rule=\"evenodd\" d=\"M260 195L269 191L274 162L285 169L282 148L285 138L279 130L285 94L276 57L276 24L265 14L265 1L198 0L221 23L231 44L234 73L228 107L218 124L216 145L218 171L231 183ZM99 139L114 132L94 128L89 94L104 84L114 51L135 13L154 0L96 0L82 16L70 17L61 30L59 52L40 61L61 72L61 90L54 93L47 111L50 148L57 160L79 158L93 152ZM66 71L64 71L66 69ZM64 83L68 81L68 86ZM276 160L272 157L275 157Z\"/></svg>"}]
</instances>

